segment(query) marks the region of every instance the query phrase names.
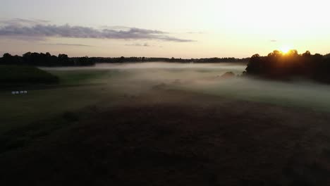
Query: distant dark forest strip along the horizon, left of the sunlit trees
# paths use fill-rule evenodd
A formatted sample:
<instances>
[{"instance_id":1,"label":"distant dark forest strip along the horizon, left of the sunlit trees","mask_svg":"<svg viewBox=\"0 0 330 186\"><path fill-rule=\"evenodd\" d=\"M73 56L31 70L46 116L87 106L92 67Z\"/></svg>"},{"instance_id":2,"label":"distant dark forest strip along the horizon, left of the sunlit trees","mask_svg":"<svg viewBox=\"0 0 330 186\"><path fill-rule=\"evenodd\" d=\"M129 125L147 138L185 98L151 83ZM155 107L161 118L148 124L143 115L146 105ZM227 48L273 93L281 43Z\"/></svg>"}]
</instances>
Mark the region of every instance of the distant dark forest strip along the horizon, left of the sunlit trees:
<instances>
[{"instance_id":1,"label":"distant dark forest strip along the horizon, left of the sunlit trees","mask_svg":"<svg viewBox=\"0 0 330 186\"><path fill-rule=\"evenodd\" d=\"M12 56L4 54L0 58L0 65L26 65L26 66L94 66L96 63L144 63L144 62L169 62L169 63L226 63L247 62L249 58L145 58L145 57L68 57L66 54L59 56L51 55L49 52L36 53L27 52L23 56Z\"/></svg>"}]
</instances>

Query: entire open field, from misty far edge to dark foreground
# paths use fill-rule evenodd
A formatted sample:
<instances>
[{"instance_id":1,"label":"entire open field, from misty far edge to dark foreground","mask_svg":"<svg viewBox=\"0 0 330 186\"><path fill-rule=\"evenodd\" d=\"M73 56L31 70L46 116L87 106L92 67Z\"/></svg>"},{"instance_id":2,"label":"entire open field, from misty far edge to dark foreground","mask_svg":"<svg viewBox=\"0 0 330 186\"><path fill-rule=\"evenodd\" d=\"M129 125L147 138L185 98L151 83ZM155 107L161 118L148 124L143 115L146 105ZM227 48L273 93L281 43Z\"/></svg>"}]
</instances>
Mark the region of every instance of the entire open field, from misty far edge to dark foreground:
<instances>
[{"instance_id":1,"label":"entire open field, from misty far edge to dark foreground","mask_svg":"<svg viewBox=\"0 0 330 186\"><path fill-rule=\"evenodd\" d=\"M329 185L329 87L221 78L240 68L47 69L59 85L1 90L0 180Z\"/></svg>"}]
</instances>

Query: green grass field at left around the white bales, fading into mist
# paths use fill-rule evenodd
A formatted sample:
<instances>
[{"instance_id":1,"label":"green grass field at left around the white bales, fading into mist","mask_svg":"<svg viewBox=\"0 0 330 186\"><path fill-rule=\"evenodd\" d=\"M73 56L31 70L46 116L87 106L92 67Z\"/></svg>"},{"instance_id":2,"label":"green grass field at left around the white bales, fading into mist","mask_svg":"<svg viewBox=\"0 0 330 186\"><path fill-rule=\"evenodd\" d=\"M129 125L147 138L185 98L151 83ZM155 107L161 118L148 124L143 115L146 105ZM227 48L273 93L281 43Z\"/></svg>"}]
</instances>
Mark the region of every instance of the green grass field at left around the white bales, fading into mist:
<instances>
[{"instance_id":1,"label":"green grass field at left around the white bales, fading into mist","mask_svg":"<svg viewBox=\"0 0 330 186\"><path fill-rule=\"evenodd\" d=\"M112 106L157 84L138 84L131 80L135 73L118 70L50 70L49 73L59 77L58 84L13 85L0 90L0 113L4 113L0 116L0 134L68 111ZM27 90L28 94L11 94L20 89Z\"/></svg>"}]
</instances>

